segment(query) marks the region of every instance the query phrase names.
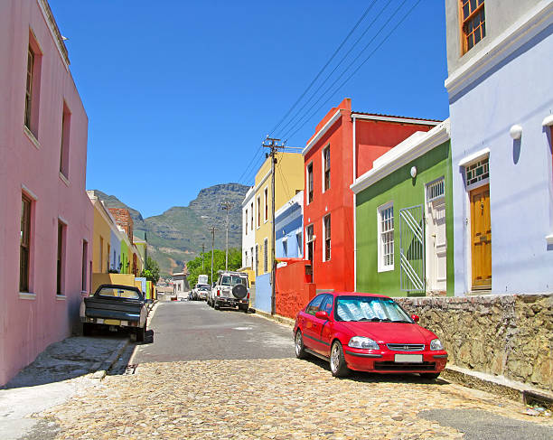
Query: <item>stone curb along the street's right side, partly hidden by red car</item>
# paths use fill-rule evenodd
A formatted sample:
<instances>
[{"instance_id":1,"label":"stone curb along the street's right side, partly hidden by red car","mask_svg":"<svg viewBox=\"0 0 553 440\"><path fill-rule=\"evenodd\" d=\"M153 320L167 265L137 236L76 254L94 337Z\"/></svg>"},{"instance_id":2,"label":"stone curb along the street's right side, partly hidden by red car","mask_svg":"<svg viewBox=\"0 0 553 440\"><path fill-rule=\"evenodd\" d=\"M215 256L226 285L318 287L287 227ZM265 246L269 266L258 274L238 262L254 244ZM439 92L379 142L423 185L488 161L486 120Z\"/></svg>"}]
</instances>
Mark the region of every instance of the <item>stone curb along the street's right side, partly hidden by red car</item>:
<instances>
[{"instance_id":1,"label":"stone curb along the street's right side, partly hidden by red car","mask_svg":"<svg viewBox=\"0 0 553 440\"><path fill-rule=\"evenodd\" d=\"M262 312L254 308L250 308L249 310L260 318L273 321L274 323L284 324L289 327L294 327L295 325L295 320L286 318L286 316L267 314L267 312ZM546 407L553 406L553 393L549 393L547 390L535 389L525 383L492 376L491 374L480 371L465 370L455 365L446 365L440 378L470 389L479 389L504 398L509 398L510 400L522 402L525 405L531 402L539 402Z\"/></svg>"}]
</instances>

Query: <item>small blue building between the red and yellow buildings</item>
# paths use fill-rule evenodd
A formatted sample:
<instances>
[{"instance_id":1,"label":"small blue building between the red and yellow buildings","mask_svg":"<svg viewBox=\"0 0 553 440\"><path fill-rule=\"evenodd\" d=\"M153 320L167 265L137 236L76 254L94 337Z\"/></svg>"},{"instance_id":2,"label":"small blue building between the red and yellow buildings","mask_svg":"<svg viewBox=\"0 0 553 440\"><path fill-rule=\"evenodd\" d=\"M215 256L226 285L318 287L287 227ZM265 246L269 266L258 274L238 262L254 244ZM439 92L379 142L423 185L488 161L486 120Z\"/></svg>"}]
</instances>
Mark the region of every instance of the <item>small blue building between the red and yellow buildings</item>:
<instances>
[{"instance_id":1,"label":"small blue building between the red and yellow buildings","mask_svg":"<svg viewBox=\"0 0 553 440\"><path fill-rule=\"evenodd\" d=\"M300 191L275 212L275 255L303 257L304 192Z\"/></svg>"}]
</instances>

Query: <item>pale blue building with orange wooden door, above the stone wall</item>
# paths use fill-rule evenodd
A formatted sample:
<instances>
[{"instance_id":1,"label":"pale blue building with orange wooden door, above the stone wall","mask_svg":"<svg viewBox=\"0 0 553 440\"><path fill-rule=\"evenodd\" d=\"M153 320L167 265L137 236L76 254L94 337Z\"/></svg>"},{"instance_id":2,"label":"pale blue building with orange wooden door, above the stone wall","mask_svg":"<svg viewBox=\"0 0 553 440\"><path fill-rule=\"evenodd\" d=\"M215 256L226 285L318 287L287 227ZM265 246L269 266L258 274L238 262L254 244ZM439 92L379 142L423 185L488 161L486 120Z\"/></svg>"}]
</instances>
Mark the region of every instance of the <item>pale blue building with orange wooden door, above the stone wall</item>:
<instances>
[{"instance_id":1,"label":"pale blue building with orange wooden door, above the stone wall","mask_svg":"<svg viewBox=\"0 0 553 440\"><path fill-rule=\"evenodd\" d=\"M553 292L553 2L445 11L455 295Z\"/></svg>"}]
</instances>

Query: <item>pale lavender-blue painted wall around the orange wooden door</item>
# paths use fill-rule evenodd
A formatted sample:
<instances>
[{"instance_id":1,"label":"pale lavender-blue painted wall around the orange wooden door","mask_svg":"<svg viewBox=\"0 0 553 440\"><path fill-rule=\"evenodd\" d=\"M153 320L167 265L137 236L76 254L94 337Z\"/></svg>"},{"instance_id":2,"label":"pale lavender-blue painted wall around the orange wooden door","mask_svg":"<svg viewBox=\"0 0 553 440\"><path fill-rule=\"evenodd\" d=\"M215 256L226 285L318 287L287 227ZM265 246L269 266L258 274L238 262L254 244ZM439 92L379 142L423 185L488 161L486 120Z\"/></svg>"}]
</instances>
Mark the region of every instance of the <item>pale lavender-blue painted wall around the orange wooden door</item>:
<instances>
[{"instance_id":1,"label":"pale lavender-blue painted wall around the orange wooden door","mask_svg":"<svg viewBox=\"0 0 553 440\"><path fill-rule=\"evenodd\" d=\"M487 4L486 4L487 5ZM500 55L476 64L475 76L450 85L455 212L455 295L471 291L470 209L459 163L489 148L492 293L553 291L551 137L542 121L553 113L553 4L539 33L532 25ZM486 13L486 20L493 17ZM530 40L529 40L530 39ZM480 45L480 43L479 43ZM483 51L490 51L482 42ZM531 66L531 68L530 68ZM455 74L455 72L452 72ZM449 79L448 79L449 81ZM446 81L446 83L448 83ZM509 134L523 128L520 140ZM470 127L470 129L467 129Z\"/></svg>"}]
</instances>

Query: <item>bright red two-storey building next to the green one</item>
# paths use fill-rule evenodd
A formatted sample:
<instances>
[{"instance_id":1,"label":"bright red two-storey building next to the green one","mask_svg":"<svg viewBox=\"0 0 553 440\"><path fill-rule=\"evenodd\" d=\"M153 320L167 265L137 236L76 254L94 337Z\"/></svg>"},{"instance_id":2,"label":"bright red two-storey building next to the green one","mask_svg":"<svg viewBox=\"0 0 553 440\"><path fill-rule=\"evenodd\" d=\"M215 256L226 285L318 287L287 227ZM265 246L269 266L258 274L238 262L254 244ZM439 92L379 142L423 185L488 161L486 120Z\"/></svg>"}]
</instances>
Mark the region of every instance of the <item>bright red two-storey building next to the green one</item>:
<instances>
[{"instance_id":1,"label":"bright red two-storey building next to the green one","mask_svg":"<svg viewBox=\"0 0 553 440\"><path fill-rule=\"evenodd\" d=\"M417 131L440 121L352 112L351 99L332 108L303 150L304 256L319 290L354 289L353 192L355 176ZM355 175L354 175L355 173ZM376 215L376 214L375 214Z\"/></svg>"}]
</instances>

